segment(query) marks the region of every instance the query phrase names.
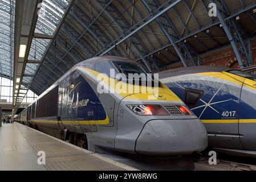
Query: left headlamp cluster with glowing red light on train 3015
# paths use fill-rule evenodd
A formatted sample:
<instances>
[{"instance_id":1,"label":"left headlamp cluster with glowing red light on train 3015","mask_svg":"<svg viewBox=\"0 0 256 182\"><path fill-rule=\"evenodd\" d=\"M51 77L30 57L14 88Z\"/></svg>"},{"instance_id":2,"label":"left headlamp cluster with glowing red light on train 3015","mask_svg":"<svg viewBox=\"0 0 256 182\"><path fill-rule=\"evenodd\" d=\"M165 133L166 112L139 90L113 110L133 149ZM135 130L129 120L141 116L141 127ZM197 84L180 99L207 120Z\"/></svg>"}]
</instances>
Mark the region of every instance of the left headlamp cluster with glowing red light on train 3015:
<instances>
[{"instance_id":1,"label":"left headlamp cluster with glowing red light on train 3015","mask_svg":"<svg viewBox=\"0 0 256 182\"><path fill-rule=\"evenodd\" d=\"M161 105L128 104L127 107L138 115L170 115Z\"/></svg>"}]
</instances>

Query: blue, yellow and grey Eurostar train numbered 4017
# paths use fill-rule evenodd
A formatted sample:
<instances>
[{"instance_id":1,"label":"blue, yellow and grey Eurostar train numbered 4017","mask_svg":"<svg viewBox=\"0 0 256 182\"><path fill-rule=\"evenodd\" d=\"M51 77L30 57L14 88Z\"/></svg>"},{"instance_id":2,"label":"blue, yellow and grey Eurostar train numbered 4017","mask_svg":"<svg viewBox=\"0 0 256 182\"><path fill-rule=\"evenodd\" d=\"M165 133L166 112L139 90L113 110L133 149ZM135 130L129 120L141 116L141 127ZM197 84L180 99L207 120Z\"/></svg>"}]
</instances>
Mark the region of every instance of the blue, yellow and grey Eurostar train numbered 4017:
<instances>
[{"instance_id":1,"label":"blue, yellow and grey Eurostar train numbered 4017","mask_svg":"<svg viewBox=\"0 0 256 182\"><path fill-rule=\"evenodd\" d=\"M227 154L256 156L256 77L222 67L189 67L159 73L204 123L209 146Z\"/></svg>"}]
</instances>

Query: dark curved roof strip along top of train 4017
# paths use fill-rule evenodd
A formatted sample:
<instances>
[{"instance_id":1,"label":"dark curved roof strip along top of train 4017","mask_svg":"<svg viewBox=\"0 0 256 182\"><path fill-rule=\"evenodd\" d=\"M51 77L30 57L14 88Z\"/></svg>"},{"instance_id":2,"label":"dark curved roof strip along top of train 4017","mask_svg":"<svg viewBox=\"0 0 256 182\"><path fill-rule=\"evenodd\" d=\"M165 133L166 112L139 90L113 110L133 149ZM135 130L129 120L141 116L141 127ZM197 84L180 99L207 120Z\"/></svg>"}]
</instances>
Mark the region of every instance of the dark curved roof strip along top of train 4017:
<instances>
[{"instance_id":1,"label":"dark curved roof strip along top of train 4017","mask_svg":"<svg viewBox=\"0 0 256 182\"><path fill-rule=\"evenodd\" d=\"M166 71L159 72L159 78L188 75L193 73L204 73L204 72L223 72L228 70L225 67L215 67L215 66L197 66L197 67L186 67L186 68L176 68L168 69Z\"/></svg>"}]
</instances>

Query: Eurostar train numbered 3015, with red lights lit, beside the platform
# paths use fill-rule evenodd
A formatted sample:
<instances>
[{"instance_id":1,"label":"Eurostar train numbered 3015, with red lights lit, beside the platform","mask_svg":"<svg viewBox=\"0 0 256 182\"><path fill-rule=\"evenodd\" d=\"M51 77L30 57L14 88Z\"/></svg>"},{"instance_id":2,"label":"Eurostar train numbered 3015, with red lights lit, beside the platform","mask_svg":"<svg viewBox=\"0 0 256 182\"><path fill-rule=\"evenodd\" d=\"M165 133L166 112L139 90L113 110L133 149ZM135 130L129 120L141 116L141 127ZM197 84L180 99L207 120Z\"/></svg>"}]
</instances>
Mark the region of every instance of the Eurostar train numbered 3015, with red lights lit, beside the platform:
<instances>
[{"instance_id":1,"label":"Eurostar train numbered 3015, with red lights lit, beside the platform","mask_svg":"<svg viewBox=\"0 0 256 182\"><path fill-rule=\"evenodd\" d=\"M111 69L125 77L147 73L140 64L121 57L82 61L23 110L16 121L93 152L107 149L176 156L208 146L204 125L172 90L157 83L158 92L124 92L123 87L117 87L120 82L127 87L147 85L116 78L109 73ZM107 92L99 93L101 88Z\"/></svg>"}]
</instances>

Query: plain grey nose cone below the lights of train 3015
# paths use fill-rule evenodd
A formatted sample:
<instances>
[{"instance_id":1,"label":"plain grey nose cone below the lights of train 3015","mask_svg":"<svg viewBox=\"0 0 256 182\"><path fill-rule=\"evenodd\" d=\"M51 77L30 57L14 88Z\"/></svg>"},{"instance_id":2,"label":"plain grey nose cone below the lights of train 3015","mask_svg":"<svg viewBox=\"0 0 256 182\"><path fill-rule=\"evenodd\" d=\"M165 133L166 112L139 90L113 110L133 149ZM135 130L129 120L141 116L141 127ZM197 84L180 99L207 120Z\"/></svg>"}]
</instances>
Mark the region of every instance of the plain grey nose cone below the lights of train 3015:
<instances>
[{"instance_id":1,"label":"plain grey nose cone below the lights of train 3015","mask_svg":"<svg viewBox=\"0 0 256 182\"><path fill-rule=\"evenodd\" d=\"M156 119L145 124L135 150L145 155L187 155L207 146L207 133L199 119Z\"/></svg>"}]
</instances>

